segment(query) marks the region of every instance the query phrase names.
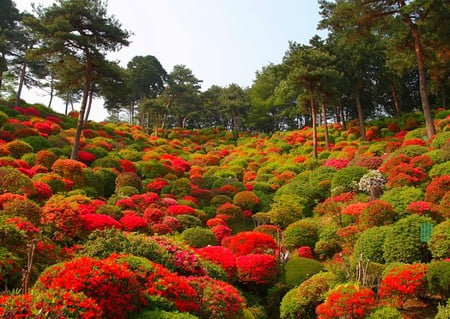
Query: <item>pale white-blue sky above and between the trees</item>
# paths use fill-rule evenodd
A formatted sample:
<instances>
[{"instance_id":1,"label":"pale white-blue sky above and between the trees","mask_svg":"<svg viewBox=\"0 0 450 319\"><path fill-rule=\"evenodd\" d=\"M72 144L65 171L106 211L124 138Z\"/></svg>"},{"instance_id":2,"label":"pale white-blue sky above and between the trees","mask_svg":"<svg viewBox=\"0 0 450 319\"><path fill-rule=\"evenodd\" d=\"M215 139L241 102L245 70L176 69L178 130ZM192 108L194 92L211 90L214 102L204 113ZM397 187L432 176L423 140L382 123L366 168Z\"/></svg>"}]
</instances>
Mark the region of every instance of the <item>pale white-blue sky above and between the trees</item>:
<instances>
[{"instance_id":1,"label":"pale white-blue sky above and between the trees","mask_svg":"<svg viewBox=\"0 0 450 319\"><path fill-rule=\"evenodd\" d=\"M44 7L53 0L13 0L20 11L31 3ZM182 64L202 80L202 91L231 83L250 87L256 71L280 63L288 42L307 44L320 20L317 0L109 0L108 15L132 33L130 45L107 55L123 67L134 56L155 56L170 73ZM27 91L29 103L48 104L43 91ZM63 112L56 100L52 108ZM107 116L103 101L94 101L91 119Z\"/></svg>"}]
</instances>

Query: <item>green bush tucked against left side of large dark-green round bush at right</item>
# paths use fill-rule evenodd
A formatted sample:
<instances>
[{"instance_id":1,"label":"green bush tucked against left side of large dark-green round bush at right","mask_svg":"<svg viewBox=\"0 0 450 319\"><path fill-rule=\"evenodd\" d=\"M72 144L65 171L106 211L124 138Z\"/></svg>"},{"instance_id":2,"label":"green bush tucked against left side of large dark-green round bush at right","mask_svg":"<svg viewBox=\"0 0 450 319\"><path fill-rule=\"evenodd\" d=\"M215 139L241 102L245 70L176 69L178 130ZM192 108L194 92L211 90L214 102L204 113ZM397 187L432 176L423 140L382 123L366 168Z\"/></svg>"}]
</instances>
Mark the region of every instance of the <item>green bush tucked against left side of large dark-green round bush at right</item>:
<instances>
[{"instance_id":1,"label":"green bush tucked against left side of large dark-green round bush at right","mask_svg":"<svg viewBox=\"0 0 450 319\"><path fill-rule=\"evenodd\" d=\"M354 246L353 258L358 260L362 256L364 260L384 264L383 246L390 228L391 226L373 227L362 232Z\"/></svg>"}]
</instances>

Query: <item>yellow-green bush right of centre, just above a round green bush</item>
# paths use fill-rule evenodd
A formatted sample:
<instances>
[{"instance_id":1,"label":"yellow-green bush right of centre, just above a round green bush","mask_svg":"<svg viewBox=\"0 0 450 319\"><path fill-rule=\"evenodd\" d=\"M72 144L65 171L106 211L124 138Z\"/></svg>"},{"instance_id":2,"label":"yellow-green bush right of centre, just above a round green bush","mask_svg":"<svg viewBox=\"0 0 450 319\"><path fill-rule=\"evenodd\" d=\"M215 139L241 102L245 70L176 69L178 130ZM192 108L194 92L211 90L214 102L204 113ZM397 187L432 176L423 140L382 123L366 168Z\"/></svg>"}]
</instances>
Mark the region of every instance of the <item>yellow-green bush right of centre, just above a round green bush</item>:
<instances>
[{"instance_id":1,"label":"yellow-green bush right of centre, just above a round green bush","mask_svg":"<svg viewBox=\"0 0 450 319\"><path fill-rule=\"evenodd\" d=\"M269 210L269 217L273 224L287 227L289 224L302 219L307 200L297 195L281 195L276 197Z\"/></svg>"}]
</instances>

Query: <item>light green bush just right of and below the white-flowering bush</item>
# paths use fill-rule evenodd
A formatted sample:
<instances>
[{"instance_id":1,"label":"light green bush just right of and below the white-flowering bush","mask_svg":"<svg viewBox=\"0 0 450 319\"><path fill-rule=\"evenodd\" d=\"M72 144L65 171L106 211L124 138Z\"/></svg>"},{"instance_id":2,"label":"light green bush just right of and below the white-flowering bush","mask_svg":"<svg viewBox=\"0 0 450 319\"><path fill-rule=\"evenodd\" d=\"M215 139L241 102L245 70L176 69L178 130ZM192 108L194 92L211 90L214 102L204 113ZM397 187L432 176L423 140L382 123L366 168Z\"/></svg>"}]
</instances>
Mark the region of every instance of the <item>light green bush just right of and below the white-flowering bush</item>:
<instances>
[{"instance_id":1,"label":"light green bush just right of and below the white-flowering bush","mask_svg":"<svg viewBox=\"0 0 450 319\"><path fill-rule=\"evenodd\" d=\"M381 195L380 200L388 202L395 209L399 217L405 216L406 208L412 202L421 201L424 193L420 188L413 186L395 187Z\"/></svg>"}]
</instances>

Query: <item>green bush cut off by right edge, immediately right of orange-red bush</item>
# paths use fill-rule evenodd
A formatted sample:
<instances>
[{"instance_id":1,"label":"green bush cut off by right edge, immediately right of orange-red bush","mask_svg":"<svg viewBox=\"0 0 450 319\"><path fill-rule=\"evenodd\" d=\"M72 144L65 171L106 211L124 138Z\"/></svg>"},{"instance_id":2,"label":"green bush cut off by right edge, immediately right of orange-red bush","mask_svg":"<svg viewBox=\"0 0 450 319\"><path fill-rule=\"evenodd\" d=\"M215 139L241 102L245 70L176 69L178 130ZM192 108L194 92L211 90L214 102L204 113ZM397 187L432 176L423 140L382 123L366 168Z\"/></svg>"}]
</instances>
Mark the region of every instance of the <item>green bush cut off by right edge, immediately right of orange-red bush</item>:
<instances>
[{"instance_id":1,"label":"green bush cut off by right edge, immediately right of orange-red bush","mask_svg":"<svg viewBox=\"0 0 450 319\"><path fill-rule=\"evenodd\" d=\"M450 298L450 262L432 261L427 265L426 280L432 294Z\"/></svg>"}]
</instances>

